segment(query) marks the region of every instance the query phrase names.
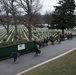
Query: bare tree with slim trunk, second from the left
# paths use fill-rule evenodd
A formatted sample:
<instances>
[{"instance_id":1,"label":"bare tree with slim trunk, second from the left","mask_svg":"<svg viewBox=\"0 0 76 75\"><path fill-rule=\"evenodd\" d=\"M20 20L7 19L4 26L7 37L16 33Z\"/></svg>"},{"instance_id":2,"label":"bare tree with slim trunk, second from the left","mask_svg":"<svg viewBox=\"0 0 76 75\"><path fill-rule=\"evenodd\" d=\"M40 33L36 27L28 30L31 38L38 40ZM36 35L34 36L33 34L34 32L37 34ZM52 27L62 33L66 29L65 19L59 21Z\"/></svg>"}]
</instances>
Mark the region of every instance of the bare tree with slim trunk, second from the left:
<instances>
[{"instance_id":1,"label":"bare tree with slim trunk, second from the left","mask_svg":"<svg viewBox=\"0 0 76 75\"><path fill-rule=\"evenodd\" d=\"M15 36L17 36L17 16L18 16L18 6L16 0L3 0L4 9L6 11L7 24L9 24L9 16L11 16L11 23L15 26ZM10 14L10 15L9 15ZM8 29L8 28L7 28Z\"/></svg>"}]
</instances>

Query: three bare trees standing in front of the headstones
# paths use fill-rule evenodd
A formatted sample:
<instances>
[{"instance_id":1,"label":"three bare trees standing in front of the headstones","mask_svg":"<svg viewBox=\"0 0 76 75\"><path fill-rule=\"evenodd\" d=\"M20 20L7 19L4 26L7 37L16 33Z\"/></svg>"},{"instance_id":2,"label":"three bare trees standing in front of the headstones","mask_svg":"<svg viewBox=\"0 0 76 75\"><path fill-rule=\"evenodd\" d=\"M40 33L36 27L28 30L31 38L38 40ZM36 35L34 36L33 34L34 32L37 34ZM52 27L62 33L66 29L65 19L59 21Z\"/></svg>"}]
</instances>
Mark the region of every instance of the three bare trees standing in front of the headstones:
<instances>
[{"instance_id":1,"label":"three bare trees standing in front of the headstones","mask_svg":"<svg viewBox=\"0 0 76 75\"><path fill-rule=\"evenodd\" d=\"M15 26L15 35L17 35L17 21L27 26L29 30L29 41L32 40L32 22L33 16L42 8L39 0L0 0L0 15L6 16L6 19L0 18L0 23L7 29L9 34L10 17L12 17ZM21 20L18 16L27 14L27 21ZM26 23L27 22L27 23Z\"/></svg>"}]
</instances>

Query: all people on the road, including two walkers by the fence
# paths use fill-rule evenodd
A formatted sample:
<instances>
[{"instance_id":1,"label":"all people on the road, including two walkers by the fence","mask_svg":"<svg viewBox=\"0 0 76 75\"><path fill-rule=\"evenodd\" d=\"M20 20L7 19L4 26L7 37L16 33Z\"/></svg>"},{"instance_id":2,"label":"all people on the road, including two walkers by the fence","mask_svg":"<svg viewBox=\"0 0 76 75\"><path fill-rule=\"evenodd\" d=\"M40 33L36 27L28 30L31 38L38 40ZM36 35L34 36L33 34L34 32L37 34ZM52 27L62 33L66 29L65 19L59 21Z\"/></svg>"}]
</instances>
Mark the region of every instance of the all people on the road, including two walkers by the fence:
<instances>
[{"instance_id":1,"label":"all people on the road, including two walkers by the fence","mask_svg":"<svg viewBox=\"0 0 76 75\"><path fill-rule=\"evenodd\" d=\"M54 42L58 42L60 44L61 41L64 41L65 39L69 40L72 39L73 35L72 33L65 33L60 34L57 32L54 36L46 37L43 41L36 42L35 46L35 56L38 56L38 54L41 53L40 47L48 46L49 41L54 44ZM14 63L16 63L17 57L19 56L19 53L16 51L12 52L12 57L14 59Z\"/></svg>"}]
</instances>

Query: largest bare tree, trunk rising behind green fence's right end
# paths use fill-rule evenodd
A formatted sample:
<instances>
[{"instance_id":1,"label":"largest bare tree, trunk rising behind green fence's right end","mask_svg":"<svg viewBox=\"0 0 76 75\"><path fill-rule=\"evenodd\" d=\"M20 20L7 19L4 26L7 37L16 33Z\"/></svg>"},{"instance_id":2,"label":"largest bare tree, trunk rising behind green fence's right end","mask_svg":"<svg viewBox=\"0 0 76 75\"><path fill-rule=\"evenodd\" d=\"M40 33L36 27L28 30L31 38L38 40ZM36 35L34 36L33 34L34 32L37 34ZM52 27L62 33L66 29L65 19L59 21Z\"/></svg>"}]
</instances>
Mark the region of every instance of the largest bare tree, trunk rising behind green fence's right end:
<instances>
[{"instance_id":1,"label":"largest bare tree, trunk rising behind green fence's right end","mask_svg":"<svg viewBox=\"0 0 76 75\"><path fill-rule=\"evenodd\" d=\"M32 21L33 16L42 8L40 0L18 0L19 6L27 14L27 25L29 30L29 41L32 40Z\"/></svg>"}]
</instances>

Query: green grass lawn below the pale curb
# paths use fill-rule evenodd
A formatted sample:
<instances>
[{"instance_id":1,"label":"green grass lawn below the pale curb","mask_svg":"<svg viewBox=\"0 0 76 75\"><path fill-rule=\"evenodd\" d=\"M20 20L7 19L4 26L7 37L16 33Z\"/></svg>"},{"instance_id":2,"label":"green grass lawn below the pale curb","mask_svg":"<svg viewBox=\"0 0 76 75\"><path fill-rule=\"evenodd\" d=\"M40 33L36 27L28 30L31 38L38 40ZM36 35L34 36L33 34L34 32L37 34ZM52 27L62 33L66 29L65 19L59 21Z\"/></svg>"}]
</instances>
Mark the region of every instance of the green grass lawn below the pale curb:
<instances>
[{"instance_id":1,"label":"green grass lawn below the pale curb","mask_svg":"<svg viewBox=\"0 0 76 75\"><path fill-rule=\"evenodd\" d=\"M21 75L76 75L76 50Z\"/></svg>"}]
</instances>

